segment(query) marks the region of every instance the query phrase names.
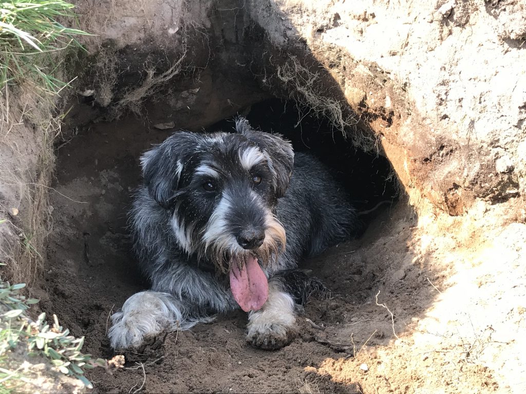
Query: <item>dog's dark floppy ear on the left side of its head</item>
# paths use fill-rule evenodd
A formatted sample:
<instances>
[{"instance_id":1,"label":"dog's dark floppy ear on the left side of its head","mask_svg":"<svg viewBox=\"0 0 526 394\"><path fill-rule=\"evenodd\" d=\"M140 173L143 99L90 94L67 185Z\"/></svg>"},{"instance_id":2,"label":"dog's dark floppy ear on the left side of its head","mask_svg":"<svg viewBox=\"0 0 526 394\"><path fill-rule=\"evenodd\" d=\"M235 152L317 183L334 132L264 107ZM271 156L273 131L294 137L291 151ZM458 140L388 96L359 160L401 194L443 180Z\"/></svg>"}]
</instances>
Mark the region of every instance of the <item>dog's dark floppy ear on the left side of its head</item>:
<instances>
[{"instance_id":1,"label":"dog's dark floppy ear on the left side of its head","mask_svg":"<svg viewBox=\"0 0 526 394\"><path fill-rule=\"evenodd\" d=\"M140 158L144 184L151 198L165 209L174 203L187 161L185 156L193 151L196 143L197 134L178 131Z\"/></svg>"}]
</instances>

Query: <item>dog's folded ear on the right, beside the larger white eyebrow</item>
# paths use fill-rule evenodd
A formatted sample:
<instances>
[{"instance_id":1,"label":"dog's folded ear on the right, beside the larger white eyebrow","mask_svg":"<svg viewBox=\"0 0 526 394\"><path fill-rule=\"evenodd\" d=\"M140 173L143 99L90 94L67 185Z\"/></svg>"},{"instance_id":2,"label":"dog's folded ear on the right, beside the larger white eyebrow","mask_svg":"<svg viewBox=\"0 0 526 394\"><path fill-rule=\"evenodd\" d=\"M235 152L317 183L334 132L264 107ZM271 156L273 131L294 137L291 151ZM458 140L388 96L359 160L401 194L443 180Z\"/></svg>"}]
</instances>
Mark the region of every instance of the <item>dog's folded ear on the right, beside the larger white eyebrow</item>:
<instances>
[{"instance_id":1,"label":"dog's folded ear on the right, beside the larger white eyebrow","mask_svg":"<svg viewBox=\"0 0 526 394\"><path fill-rule=\"evenodd\" d=\"M292 150L290 141L285 140L279 134L254 130L250 127L248 120L242 117L236 118L236 131L256 143L268 155L268 165L274 177L272 185L276 197L284 196L294 167L294 150Z\"/></svg>"}]
</instances>

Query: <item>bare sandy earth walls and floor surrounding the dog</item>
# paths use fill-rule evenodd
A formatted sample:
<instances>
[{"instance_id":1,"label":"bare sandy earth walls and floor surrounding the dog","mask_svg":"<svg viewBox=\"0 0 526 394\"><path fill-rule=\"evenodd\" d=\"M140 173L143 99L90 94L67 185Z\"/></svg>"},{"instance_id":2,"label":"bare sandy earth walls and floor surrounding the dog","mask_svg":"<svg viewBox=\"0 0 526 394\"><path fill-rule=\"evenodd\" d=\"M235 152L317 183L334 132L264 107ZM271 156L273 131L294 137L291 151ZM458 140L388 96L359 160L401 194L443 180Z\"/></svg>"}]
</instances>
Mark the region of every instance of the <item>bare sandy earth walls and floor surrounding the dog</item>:
<instances>
[{"instance_id":1,"label":"bare sandy earth walls and floor surrounding the dog","mask_svg":"<svg viewBox=\"0 0 526 394\"><path fill-rule=\"evenodd\" d=\"M148 287L126 212L140 153L179 128L242 113L317 154L360 211L388 201L305 262L331 296L289 346L252 349L235 312L88 372L95 391L524 391L524 2L78 6L94 35L69 59L63 132L43 136L57 114L27 87L4 122L0 252L85 351L115 356L109 316Z\"/></svg>"}]
</instances>

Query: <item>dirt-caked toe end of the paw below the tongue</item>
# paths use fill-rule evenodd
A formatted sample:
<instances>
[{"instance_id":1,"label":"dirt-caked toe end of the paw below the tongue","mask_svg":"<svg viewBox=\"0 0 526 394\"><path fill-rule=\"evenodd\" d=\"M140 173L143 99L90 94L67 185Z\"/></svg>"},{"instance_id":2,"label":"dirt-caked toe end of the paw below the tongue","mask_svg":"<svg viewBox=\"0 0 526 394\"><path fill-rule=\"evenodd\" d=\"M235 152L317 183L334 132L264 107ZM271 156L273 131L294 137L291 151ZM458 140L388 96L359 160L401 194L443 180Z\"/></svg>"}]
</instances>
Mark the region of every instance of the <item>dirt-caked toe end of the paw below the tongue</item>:
<instances>
[{"instance_id":1,"label":"dirt-caked toe end of the paw below the tongue","mask_svg":"<svg viewBox=\"0 0 526 394\"><path fill-rule=\"evenodd\" d=\"M248 328L247 342L255 348L264 350L277 350L290 344L296 336L292 326L284 324L250 325Z\"/></svg>"}]
</instances>

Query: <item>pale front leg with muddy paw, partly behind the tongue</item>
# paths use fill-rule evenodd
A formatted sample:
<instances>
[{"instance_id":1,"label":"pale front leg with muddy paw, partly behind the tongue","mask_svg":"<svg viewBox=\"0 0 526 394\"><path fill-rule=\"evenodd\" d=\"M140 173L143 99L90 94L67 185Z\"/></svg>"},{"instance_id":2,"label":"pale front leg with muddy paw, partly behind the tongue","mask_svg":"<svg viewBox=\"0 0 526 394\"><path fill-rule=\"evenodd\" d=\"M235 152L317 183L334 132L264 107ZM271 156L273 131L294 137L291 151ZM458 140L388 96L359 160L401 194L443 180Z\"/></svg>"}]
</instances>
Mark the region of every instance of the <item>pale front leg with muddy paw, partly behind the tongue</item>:
<instances>
[{"instance_id":1,"label":"pale front leg with muddy paw, partly behind the tongue","mask_svg":"<svg viewBox=\"0 0 526 394\"><path fill-rule=\"evenodd\" d=\"M288 345L296 333L296 303L280 277L268 284L263 307L248 315L247 341L254 347L275 350Z\"/></svg>"}]
</instances>

